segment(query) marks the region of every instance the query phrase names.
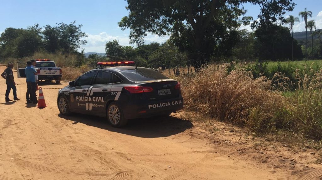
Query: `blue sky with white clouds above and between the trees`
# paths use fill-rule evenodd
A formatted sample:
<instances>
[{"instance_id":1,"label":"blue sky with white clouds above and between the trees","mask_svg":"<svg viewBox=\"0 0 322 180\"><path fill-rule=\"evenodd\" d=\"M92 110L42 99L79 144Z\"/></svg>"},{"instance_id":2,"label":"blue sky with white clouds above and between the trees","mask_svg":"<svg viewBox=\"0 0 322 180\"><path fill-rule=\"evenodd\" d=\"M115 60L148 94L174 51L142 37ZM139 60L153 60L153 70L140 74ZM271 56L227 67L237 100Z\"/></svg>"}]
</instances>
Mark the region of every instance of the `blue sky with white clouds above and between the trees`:
<instances>
[{"instance_id":1,"label":"blue sky with white clouds above and between the trees","mask_svg":"<svg viewBox=\"0 0 322 180\"><path fill-rule=\"evenodd\" d=\"M298 16L298 12L313 12L312 18L315 20L317 29L322 29L322 0L295 0L297 4L294 11L287 15ZM118 27L118 22L122 17L128 15L125 9L127 2L124 0L0 0L0 33L6 28L27 28L36 23L43 27L47 24L55 26L56 23L66 23L76 20L76 24L82 24L81 30L88 34L87 45L82 47L85 52L105 53L105 43L118 39L120 45L130 45L129 30L122 31ZM247 15L257 19L259 7L244 5L248 9ZM250 26L242 27L250 29ZM304 31L304 22L300 18L300 23L293 27L294 32ZM149 34L145 38L146 43L165 42L168 37L158 37ZM131 45L135 46L135 45Z\"/></svg>"}]
</instances>

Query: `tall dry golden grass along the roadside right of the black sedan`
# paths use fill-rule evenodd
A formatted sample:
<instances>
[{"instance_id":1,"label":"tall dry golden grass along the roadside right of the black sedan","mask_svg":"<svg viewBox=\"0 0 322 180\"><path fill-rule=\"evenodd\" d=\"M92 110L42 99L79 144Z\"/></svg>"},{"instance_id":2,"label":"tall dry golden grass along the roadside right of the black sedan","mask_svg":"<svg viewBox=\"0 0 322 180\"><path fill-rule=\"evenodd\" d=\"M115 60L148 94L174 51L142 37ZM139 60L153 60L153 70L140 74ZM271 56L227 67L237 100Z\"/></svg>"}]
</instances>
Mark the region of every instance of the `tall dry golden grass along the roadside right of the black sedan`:
<instances>
[{"instance_id":1,"label":"tall dry golden grass along the roadside right of the black sedan","mask_svg":"<svg viewBox=\"0 0 322 180\"><path fill-rule=\"evenodd\" d=\"M296 93L284 97L289 78L281 73L275 74L276 83L265 76L254 79L245 69L227 69L209 67L194 77L177 77L185 108L256 132L286 129L322 138L322 70L299 79Z\"/></svg>"}]
</instances>

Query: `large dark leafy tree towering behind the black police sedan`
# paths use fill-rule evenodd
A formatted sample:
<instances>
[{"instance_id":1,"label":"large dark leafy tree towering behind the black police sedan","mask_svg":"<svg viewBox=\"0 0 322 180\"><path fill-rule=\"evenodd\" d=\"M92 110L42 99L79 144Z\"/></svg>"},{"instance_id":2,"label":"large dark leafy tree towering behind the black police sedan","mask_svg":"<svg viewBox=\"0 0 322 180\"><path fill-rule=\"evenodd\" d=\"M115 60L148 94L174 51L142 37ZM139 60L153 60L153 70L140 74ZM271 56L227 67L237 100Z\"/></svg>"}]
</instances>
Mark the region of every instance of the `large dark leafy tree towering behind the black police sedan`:
<instances>
[{"instance_id":1,"label":"large dark leafy tree towering behind the black police sedan","mask_svg":"<svg viewBox=\"0 0 322 180\"><path fill-rule=\"evenodd\" d=\"M247 24L250 17L244 16L246 10L242 3L260 5L259 21L252 27L284 23L283 15L292 11L293 0L127 0L129 15L118 25L124 30L130 28L130 42L144 44L147 32L159 36L171 35L171 41L181 51L189 54L195 67L207 63L218 51L216 47L225 44L236 33L242 23ZM230 45L226 43L226 45Z\"/></svg>"}]
</instances>

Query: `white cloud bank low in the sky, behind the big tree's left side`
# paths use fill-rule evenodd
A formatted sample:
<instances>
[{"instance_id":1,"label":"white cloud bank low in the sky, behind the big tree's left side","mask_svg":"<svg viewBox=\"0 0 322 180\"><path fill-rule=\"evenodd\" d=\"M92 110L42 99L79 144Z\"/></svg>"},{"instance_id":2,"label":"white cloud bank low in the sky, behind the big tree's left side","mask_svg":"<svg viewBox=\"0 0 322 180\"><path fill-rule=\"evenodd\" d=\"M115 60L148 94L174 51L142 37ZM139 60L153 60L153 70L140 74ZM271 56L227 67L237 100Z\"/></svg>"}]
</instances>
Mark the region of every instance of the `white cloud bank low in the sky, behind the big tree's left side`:
<instances>
[{"instance_id":1,"label":"white cloud bank low in the sky, behind the big tree's left side","mask_svg":"<svg viewBox=\"0 0 322 180\"><path fill-rule=\"evenodd\" d=\"M88 37L83 38L83 40L87 41L86 45L83 45L82 48L85 49L85 53L87 52L96 52L96 53L105 53L105 44L106 42L118 40L119 45L123 46L134 46L136 44L130 44L130 39L127 34L123 34L122 36L111 36L106 32L99 33L98 35L87 34ZM169 36L159 37L157 35L153 35L151 33L147 34L147 37L144 38L146 44L150 44L151 42L164 43L169 39Z\"/></svg>"}]
</instances>

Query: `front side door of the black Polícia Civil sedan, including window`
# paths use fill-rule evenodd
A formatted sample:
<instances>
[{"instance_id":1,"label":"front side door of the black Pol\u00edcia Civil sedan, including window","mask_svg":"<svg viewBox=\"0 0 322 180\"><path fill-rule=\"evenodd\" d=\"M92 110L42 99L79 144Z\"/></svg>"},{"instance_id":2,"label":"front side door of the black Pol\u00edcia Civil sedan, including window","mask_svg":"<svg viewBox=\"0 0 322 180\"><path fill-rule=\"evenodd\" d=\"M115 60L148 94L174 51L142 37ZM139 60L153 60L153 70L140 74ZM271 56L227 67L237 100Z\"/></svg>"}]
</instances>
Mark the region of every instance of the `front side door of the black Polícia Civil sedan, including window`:
<instances>
[{"instance_id":1,"label":"front side door of the black Pol\u00edcia Civil sedan, including window","mask_svg":"<svg viewBox=\"0 0 322 180\"><path fill-rule=\"evenodd\" d=\"M84 112L90 110L91 103L90 90L91 83L97 71L90 71L85 73L75 81L75 86L70 91L70 102L72 110ZM85 112L86 113L86 112Z\"/></svg>"}]
</instances>

